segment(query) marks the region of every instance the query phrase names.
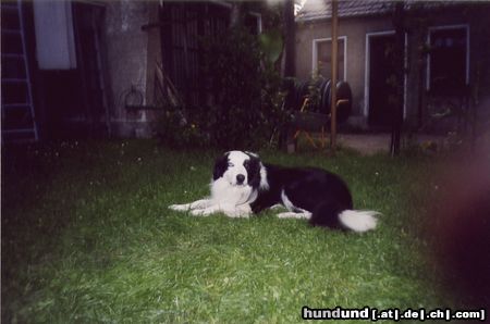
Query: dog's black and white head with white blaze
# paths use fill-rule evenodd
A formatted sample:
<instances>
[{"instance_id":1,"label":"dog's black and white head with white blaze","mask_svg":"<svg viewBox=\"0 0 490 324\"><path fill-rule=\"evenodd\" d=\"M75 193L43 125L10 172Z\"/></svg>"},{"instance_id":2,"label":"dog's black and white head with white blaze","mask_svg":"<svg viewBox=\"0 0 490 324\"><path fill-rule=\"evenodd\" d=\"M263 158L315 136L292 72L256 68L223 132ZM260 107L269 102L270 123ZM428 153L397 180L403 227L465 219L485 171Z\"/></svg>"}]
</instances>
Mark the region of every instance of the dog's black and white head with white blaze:
<instances>
[{"instance_id":1,"label":"dog's black and white head with white blaze","mask_svg":"<svg viewBox=\"0 0 490 324\"><path fill-rule=\"evenodd\" d=\"M231 186L258 188L267 183L266 169L259 157L243 151L230 151L216 160L212 179L220 177Z\"/></svg>"}]
</instances>

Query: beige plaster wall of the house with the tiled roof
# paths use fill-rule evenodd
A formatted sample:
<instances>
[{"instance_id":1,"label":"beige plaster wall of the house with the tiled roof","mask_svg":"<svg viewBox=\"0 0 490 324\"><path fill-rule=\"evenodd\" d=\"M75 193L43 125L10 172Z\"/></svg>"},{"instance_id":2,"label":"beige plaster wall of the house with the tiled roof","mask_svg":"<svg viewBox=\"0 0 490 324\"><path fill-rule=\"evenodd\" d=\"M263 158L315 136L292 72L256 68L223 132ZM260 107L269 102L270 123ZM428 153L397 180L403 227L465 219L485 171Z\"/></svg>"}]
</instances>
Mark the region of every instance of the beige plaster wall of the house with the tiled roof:
<instances>
[{"instance_id":1,"label":"beige plaster wall of the house with the tiled roof","mask_svg":"<svg viewBox=\"0 0 490 324\"><path fill-rule=\"evenodd\" d=\"M490 32L488 17L490 16L490 5L474 4L454 10L446 9L443 12L430 14L425 23L430 26L460 25L469 26L469 84L476 83L477 73L480 75L479 104L477 107L479 115L490 114ZM426 70L420 76L418 48L421 39L420 28L416 28L420 21L413 17L411 33L407 34L407 78L405 99L405 121L414 127L418 123L419 107L419 79L426 82ZM308 79L313 68L313 41L318 38L330 38L330 21L313 21L296 23L296 77ZM421 28L424 29L424 28ZM347 37L347 82L353 91L353 113L348 120L352 125L367 127L366 107L366 35L394 30L390 15L372 17L340 18L339 36ZM422 62L424 64L426 61ZM328 76L327 76L328 77ZM425 84L422 87L425 91ZM427 96L422 96L422 104L427 103ZM427 114L427 112L426 112Z\"/></svg>"}]
</instances>

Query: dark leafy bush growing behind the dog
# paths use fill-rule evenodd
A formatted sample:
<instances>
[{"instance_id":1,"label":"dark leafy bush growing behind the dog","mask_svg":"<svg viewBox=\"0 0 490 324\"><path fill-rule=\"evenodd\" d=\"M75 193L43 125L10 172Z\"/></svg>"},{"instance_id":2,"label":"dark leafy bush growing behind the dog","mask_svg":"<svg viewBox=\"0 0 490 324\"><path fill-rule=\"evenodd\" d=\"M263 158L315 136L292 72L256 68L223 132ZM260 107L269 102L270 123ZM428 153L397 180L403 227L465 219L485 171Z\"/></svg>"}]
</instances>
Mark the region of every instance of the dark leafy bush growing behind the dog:
<instances>
[{"instance_id":1,"label":"dark leafy bush growing behind the dog","mask_svg":"<svg viewBox=\"0 0 490 324\"><path fill-rule=\"evenodd\" d=\"M176 147L256 149L270 144L286 117L281 77L257 37L236 26L201 45L209 105L168 112L163 138Z\"/></svg>"}]
</instances>

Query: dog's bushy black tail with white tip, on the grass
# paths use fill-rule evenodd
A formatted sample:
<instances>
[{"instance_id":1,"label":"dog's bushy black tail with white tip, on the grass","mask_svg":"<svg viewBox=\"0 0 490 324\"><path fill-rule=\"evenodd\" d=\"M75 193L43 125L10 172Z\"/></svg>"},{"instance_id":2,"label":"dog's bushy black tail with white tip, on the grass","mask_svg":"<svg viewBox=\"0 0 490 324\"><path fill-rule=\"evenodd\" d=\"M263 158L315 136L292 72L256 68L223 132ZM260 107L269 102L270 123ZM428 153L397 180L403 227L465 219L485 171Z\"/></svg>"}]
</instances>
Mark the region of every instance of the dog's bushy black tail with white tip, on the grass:
<instances>
[{"instance_id":1,"label":"dog's bushy black tail with white tip, on the grass","mask_svg":"<svg viewBox=\"0 0 490 324\"><path fill-rule=\"evenodd\" d=\"M376 228L379 212L346 210L332 203L320 204L311 214L309 223L314 226L345 228L364 233Z\"/></svg>"}]
</instances>

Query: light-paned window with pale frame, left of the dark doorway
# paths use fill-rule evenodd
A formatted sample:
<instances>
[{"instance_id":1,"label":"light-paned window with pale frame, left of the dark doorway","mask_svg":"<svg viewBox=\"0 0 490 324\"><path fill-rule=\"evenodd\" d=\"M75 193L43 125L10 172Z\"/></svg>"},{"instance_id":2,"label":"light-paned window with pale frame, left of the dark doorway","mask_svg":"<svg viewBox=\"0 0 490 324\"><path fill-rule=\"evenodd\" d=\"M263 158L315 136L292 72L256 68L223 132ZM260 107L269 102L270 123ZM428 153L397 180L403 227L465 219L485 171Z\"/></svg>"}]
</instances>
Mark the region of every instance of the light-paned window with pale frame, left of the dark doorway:
<instances>
[{"instance_id":1,"label":"light-paned window with pale frame, left of the dark doorway","mask_svg":"<svg viewBox=\"0 0 490 324\"><path fill-rule=\"evenodd\" d=\"M346 80L347 78L347 38L345 36L339 37L339 74L340 80ZM318 74L327 79L332 75L332 40L328 39L315 39L314 40L314 59L313 59L313 72L318 71Z\"/></svg>"}]
</instances>

